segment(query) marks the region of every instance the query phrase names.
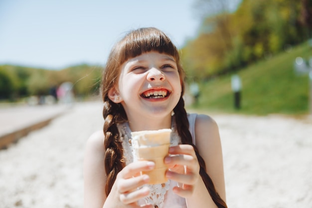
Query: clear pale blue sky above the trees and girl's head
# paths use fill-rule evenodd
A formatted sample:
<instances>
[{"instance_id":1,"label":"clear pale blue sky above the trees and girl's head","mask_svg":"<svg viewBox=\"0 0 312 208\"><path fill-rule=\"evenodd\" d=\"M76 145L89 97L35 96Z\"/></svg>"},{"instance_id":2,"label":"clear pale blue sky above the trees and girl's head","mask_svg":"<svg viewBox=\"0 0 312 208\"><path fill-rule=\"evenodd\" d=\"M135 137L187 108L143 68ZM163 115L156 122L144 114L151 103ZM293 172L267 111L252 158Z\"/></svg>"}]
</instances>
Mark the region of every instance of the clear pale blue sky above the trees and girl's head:
<instances>
[{"instance_id":1,"label":"clear pale blue sky above the trees and girl's head","mask_svg":"<svg viewBox=\"0 0 312 208\"><path fill-rule=\"evenodd\" d=\"M127 31L155 26L178 48L200 24L195 0L0 0L0 64L103 65Z\"/></svg>"}]
</instances>

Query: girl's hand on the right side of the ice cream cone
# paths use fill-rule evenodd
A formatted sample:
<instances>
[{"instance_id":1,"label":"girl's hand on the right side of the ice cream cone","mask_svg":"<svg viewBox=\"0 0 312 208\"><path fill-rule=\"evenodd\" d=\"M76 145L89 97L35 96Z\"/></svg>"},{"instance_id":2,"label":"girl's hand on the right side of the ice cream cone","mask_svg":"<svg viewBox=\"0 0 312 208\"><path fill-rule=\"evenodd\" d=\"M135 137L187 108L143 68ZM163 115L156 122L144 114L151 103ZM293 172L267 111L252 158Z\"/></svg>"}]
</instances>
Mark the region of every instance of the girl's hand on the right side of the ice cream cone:
<instances>
[{"instance_id":1,"label":"girl's hand on the right side of the ice cream cone","mask_svg":"<svg viewBox=\"0 0 312 208\"><path fill-rule=\"evenodd\" d=\"M164 159L169 167L166 177L182 184L174 187L173 192L180 197L190 197L200 178L200 166L194 148L191 145L177 145L169 148L169 154Z\"/></svg>"}]
</instances>

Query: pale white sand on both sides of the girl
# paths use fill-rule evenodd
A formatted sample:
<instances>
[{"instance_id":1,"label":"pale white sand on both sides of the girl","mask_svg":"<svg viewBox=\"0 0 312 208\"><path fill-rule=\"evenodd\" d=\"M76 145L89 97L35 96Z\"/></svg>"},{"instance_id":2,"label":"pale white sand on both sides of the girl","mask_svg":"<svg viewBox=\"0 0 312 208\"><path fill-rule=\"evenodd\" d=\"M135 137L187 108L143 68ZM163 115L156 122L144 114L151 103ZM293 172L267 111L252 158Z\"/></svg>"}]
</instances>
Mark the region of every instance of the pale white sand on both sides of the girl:
<instances>
[{"instance_id":1,"label":"pale white sand on both sides of the girl","mask_svg":"<svg viewBox=\"0 0 312 208\"><path fill-rule=\"evenodd\" d=\"M312 119L218 115L229 208L312 208ZM85 143L102 105L77 103L0 150L0 208L82 208Z\"/></svg>"}]
</instances>

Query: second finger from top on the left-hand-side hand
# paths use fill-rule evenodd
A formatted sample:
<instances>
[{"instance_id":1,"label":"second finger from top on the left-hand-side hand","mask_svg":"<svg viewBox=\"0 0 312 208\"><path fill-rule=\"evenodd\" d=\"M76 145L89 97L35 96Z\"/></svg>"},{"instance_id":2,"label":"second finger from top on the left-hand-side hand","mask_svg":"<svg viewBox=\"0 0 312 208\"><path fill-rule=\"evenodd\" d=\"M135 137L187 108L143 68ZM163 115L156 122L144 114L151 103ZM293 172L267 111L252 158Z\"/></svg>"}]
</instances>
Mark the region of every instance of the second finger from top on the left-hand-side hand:
<instances>
[{"instance_id":1,"label":"second finger from top on the left-hand-side hand","mask_svg":"<svg viewBox=\"0 0 312 208\"><path fill-rule=\"evenodd\" d=\"M150 177L148 175L142 175L142 176L133 177L130 179L124 179L120 183L117 184L117 190L121 194L128 193L147 184L149 181L150 181Z\"/></svg>"}]
</instances>

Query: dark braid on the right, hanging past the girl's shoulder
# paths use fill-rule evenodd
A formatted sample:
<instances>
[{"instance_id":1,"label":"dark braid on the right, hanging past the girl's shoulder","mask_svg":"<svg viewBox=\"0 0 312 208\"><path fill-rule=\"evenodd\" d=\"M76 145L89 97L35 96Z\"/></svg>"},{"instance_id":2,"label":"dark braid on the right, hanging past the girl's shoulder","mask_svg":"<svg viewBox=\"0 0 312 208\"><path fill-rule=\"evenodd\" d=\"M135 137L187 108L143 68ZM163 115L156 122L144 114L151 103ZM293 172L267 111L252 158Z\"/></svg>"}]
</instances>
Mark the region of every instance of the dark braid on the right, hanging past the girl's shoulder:
<instances>
[{"instance_id":1,"label":"dark braid on the right, hanging past the girl's shoulder","mask_svg":"<svg viewBox=\"0 0 312 208\"><path fill-rule=\"evenodd\" d=\"M181 137L181 142L183 144L189 144L189 145L193 146L195 153L196 153L196 157L197 157L199 166L200 166L199 174L200 174L202 180L204 181L204 184L205 184L213 202L217 205L218 208L227 208L225 202L221 199L221 197L217 193L211 178L209 177L209 175L206 172L205 161L199 155L198 149L196 148L196 146L192 142L192 136L188 130L189 123L188 123L186 111L184 109L184 100L183 100L182 96L180 97L180 100L179 100L178 104L175 106L175 108L173 109L173 111L174 111L174 115L175 115L176 129L177 129L178 134Z\"/></svg>"}]
</instances>

